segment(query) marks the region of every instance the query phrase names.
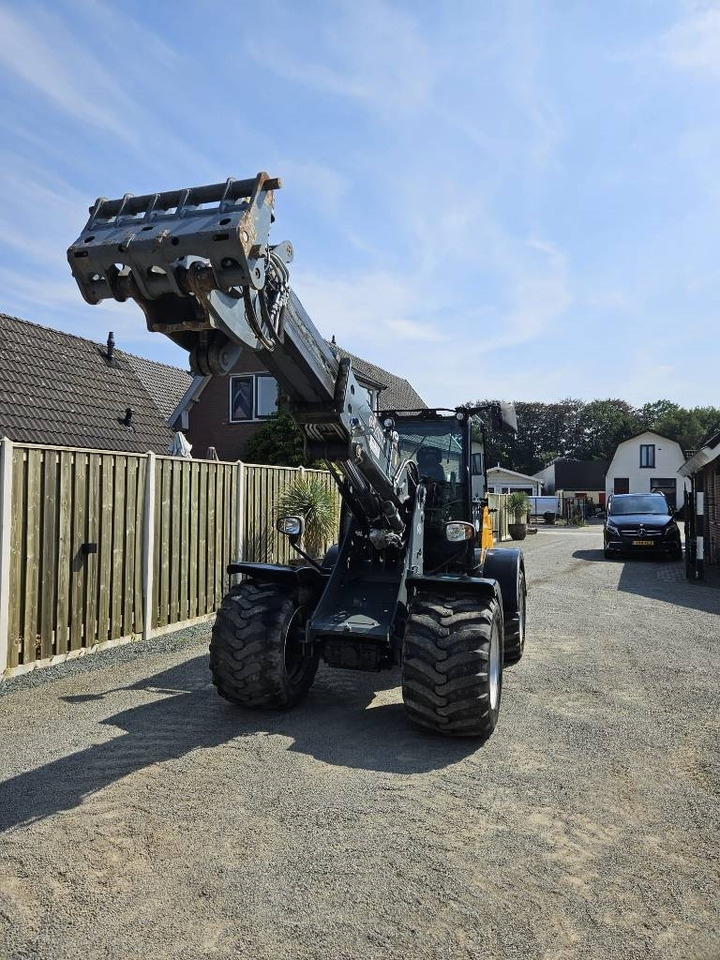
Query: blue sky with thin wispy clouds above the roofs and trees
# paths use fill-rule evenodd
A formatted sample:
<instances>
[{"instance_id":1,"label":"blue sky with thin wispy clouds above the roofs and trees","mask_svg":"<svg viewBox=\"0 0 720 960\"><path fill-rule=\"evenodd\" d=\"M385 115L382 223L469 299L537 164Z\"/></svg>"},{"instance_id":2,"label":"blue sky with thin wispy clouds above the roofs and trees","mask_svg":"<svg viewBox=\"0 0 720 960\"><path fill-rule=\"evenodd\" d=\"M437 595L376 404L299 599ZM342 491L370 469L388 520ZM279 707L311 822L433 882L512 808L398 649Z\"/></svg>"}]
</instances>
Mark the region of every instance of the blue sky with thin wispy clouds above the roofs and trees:
<instances>
[{"instance_id":1,"label":"blue sky with thin wispy clouds above the roofs and trees","mask_svg":"<svg viewBox=\"0 0 720 960\"><path fill-rule=\"evenodd\" d=\"M0 38L3 312L186 366L66 248L267 170L317 326L431 405L720 405L720 4L0 0Z\"/></svg>"}]
</instances>

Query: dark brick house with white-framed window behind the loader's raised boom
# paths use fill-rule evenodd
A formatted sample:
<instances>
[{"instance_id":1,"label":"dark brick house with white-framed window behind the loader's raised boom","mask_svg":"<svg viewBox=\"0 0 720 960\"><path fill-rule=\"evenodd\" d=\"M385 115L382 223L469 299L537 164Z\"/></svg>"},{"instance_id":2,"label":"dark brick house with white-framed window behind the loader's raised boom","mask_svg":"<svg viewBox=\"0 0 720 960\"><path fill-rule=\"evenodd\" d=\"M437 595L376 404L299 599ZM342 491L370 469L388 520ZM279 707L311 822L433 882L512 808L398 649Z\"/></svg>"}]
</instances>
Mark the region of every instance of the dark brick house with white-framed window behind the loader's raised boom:
<instances>
[{"instance_id":1,"label":"dark brick house with white-framed window behind the loader's raised boom","mask_svg":"<svg viewBox=\"0 0 720 960\"><path fill-rule=\"evenodd\" d=\"M352 360L360 384L368 391L373 409L414 410L427 405L411 384L342 350ZM193 455L204 457L214 448L220 460L242 460L247 442L277 410L278 384L252 353L241 356L232 373L224 377L195 377L170 416L182 430Z\"/></svg>"}]
</instances>

